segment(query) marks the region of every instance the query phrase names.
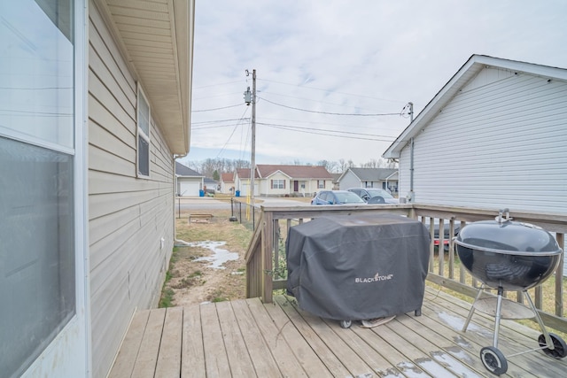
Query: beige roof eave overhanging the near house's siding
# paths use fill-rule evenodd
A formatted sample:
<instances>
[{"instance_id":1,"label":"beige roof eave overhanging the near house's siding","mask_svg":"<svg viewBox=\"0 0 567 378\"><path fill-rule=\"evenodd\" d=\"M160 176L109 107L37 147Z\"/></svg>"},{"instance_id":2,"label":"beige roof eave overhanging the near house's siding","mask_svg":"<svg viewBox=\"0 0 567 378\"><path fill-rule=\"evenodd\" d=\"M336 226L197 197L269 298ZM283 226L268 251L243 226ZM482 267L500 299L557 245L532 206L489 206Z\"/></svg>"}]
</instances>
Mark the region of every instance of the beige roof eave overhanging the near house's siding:
<instances>
[{"instance_id":1,"label":"beige roof eave overhanging the near house's siding","mask_svg":"<svg viewBox=\"0 0 567 378\"><path fill-rule=\"evenodd\" d=\"M172 154L190 149L195 0L94 0ZM139 37L138 37L139 36Z\"/></svg>"}]
</instances>

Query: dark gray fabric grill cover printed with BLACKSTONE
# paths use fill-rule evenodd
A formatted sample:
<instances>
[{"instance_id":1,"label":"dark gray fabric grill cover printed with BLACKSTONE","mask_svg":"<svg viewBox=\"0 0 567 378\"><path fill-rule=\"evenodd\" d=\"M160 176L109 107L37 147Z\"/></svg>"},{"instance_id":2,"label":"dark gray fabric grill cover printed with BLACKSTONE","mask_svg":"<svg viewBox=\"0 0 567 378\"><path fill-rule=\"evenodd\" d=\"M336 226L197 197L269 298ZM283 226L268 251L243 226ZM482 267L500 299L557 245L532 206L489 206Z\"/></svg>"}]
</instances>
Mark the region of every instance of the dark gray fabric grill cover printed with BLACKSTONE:
<instances>
[{"instance_id":1,"label":"dark gray fabric grill cover printed with BLACKSTONE","mask_svg":"<svg viewBox=\"0 0 567 378\"><path fill-rule=\"evenodd\" d=\"M290 228L287 290L322 318L368 320L420 310L430 236L400 215L338 215Z\"/></svg>"}]
</instances>

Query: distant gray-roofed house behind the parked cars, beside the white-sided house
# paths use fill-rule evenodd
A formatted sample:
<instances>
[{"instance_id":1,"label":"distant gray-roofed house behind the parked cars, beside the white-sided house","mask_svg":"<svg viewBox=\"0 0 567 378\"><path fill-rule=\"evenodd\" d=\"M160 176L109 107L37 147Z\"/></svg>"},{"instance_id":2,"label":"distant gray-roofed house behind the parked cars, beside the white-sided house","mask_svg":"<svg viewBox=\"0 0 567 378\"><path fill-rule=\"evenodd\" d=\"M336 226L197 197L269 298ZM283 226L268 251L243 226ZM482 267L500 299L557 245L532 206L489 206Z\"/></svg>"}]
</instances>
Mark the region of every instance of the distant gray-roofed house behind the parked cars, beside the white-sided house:
<instances>
[{"instance_id":1,"label":"distant gray-roofed house behind the parked cars, beside the white-sided house","mask_svg":"<svg viewBox=\"0 0 567 378\"><path fill-rule=\"evenodd\" d=\"M390 168L348 168L338 179L338 189L377 188L398 192L398 170Z\"/></svg>"}]
</instances>

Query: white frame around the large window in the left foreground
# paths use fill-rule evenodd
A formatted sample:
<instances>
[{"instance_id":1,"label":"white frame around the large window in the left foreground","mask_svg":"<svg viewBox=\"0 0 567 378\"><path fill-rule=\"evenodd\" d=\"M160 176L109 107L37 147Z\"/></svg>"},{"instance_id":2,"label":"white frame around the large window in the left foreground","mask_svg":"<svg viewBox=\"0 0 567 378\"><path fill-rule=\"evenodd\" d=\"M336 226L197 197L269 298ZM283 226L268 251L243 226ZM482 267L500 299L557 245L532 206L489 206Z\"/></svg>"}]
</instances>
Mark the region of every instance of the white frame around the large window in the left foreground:
<instances>
[{"instance_id":1,"label":"white frame around the large window in the left foreground","mask_svg":"<svg viewBox=\"0 0 567 378\"><path fill-rule=\"evenodd\" d=\"M72 2L73 3L73 2ZM15 6L15 5L14 5ZM74 126L70 130L73 145L48 141L21 133L14 127L0 126L0 135L21 143L42 147L73 157L74 190L74 263L75 312L66 326L50 342L41 355L31 361L22 378L36 376L82 376L91 371L90 300L89 300L89 217L88 217L88 100L87 59L89 24L88 2L74 1ZM87 48L87 50L85 50Z\"/></svg>"}]
</instances>

